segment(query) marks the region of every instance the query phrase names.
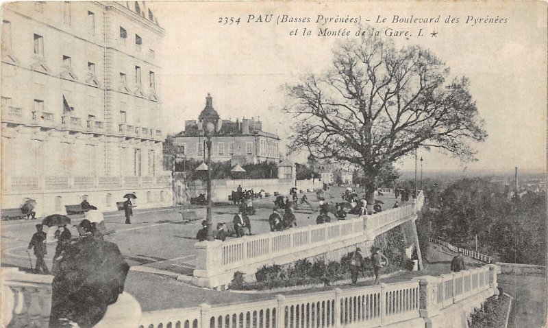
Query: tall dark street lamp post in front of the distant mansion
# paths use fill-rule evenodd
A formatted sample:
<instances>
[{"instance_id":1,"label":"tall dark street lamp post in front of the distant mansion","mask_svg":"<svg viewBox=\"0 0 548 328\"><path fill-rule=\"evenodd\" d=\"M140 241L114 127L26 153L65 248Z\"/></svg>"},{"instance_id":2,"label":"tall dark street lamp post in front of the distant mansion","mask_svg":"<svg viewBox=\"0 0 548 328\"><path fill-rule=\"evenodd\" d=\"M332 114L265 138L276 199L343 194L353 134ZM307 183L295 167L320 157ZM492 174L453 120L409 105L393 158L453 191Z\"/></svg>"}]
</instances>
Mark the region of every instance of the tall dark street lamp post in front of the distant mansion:
<instances>
[{"instance_id":1,"label":"tall dark street lamp post in front of the distant mansion","mask_svg":"<svg viewBox=\"0 0 548 328\"><path fill-rule=\"evenodd\" d=\"M221 130L219 124L219 114L213 109L212 97L208 93L206 97L206 108L203 108L199 117L199 127L206 134L206 146L208 148L208 207L206 209L206 222L208 224L208 241L213 240L213 222L211 217L212 199L211 199L211 138Z\"/></svg>"}]
</instances>

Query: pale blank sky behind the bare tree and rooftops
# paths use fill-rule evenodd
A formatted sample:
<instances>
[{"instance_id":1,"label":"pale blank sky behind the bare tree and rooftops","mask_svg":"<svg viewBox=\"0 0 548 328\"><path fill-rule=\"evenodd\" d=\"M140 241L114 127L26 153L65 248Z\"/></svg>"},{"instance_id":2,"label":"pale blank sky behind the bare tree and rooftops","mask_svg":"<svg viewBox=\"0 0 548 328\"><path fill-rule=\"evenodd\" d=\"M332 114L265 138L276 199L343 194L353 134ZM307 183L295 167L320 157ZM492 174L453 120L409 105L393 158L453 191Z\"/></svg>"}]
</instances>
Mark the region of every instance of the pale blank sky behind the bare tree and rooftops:
<instances>
[{"instance_id":1,"label":"pale blank sky behind the bare tree and rooftops","mask_svg":"<svg viewBox=\"0 0 548 328\"><path fill-rule=\"evenodd\" d=\"M319 15L359 17L362 23L370 19L381 32L387 28L410 31L408 38L387 38L398 47L421 45L447 63L451 76L470 79L471 94L488 132L484 143L473 143L478 161L463 164L436 150L419 151L425 170L546 169L547 10L540 1L155 1L151 8L166 31L158 56L168 132L184 130L186 119L197 119L211 93L222 119L260 119L263 130L279 134L283 143L291 119L280 111L286 102L280 86L329 68L332 47L344 37L316 36L319 28L346 28L352 34L358 29L353 23L320 25L316 19ZM269 23L266 14L273 15ZM253 15L251 23L247 23L249 15ZM309 18L310 23L278 24L283 15ZM393 23L395 15L439 16L440 21ZM259 16L262 22L257 22ZM376 23L379 16L386 22ZM459 22L445 23L448 16ZM224 25L218 23L221 17L239 17L240 23ZM479 19L498 20L483 23ZM290 35L295 29L302 34L304 28L313 35ZM420 28L425 36L416 36ZM284 152L283 145L281 149ZM292 157L294 161L305 158L305 154ZM397 167L413 169L414 157L399 161Z\"/></svg>"}]
</instances>

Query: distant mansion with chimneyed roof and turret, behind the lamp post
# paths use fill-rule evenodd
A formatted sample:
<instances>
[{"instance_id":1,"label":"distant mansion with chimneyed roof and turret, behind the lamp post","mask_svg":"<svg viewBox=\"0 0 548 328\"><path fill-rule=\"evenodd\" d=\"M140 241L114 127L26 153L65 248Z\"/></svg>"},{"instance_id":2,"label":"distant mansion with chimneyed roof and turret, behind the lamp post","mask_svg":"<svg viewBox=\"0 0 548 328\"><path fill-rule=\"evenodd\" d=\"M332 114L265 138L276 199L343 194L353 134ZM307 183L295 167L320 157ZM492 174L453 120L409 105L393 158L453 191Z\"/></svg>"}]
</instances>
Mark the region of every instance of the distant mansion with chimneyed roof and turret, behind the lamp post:
<instances>
[{"instance_id":1,"label":"distant mansion with chimneyed roof and turret, behind the lamp post","mask_svg":"<svg viewBox=\"0 0 548 328\"><path fill-rule=\"evenodd\" d=\"M212 97L206 97L206 108L212 108ZM185 121L185 130L173 137L186 159L204 160L207 156L206 138L195 120ZM279 162L279 137L264 132L262 122L255 119L222 120L221 130L212 137L211 160L232 161L233 165L258 162Z\"/></svg>"}]
</instances>

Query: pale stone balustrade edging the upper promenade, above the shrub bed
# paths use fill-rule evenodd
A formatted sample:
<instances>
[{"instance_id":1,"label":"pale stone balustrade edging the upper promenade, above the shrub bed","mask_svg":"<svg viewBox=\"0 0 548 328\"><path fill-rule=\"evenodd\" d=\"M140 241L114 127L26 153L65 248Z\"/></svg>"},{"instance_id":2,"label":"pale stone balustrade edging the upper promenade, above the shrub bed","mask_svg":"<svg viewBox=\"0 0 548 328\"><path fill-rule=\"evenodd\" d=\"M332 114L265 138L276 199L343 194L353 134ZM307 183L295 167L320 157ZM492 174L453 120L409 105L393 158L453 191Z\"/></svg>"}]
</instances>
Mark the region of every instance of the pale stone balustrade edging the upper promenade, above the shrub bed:
<instances>
[{"instance_id":1,"label":"pale stone balustrade edging the upper promenade, above the shrub bed","mask_svg":"<svg viewBox=\"0 0 548 328\"><path fill-rule=\"evenodd\" d=\"M421 194L422 195L422 194ZM394 226L416 218L419 200L360 218L245 236L225 242L199 242L192 283L208 288L225 285L236 271L256 272L266 264L283 264L373 240Z\"/></svg>"}]
</instances>

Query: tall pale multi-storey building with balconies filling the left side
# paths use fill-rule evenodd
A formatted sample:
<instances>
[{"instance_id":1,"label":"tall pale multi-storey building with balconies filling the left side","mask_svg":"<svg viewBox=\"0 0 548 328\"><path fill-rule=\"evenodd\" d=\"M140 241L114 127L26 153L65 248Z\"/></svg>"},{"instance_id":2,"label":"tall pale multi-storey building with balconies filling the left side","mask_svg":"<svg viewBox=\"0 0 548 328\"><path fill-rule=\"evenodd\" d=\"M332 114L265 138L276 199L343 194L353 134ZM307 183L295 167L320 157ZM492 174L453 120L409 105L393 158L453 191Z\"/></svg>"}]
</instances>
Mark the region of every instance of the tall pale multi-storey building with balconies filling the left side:
<instances>
[{"instance_id":1,"label":"tall pale multi-storey building with balconies filling the left side","mask_svg":"<svg viewBox=\"0 0 548 328\"><path fill-rule=\"evenodd\" d=\"M143 1L3 5L2 208L42 210L87 198L99 209L134 192L172 204L162 171L164 30Z\"/></svg>"}]
</instances>

